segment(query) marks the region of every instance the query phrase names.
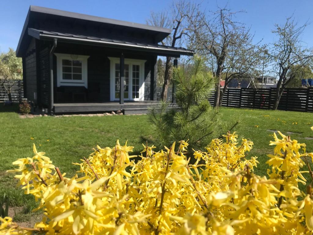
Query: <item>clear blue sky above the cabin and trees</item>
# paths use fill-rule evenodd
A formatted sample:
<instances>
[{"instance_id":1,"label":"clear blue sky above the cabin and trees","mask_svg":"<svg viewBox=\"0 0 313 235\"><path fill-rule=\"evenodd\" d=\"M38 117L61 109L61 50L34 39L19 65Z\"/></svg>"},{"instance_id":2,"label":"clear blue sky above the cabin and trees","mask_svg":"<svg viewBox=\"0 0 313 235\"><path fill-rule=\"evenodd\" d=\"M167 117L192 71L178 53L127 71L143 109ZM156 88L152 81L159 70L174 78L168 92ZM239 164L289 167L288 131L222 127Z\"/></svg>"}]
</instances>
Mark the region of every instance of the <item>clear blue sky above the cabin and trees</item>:
<instances>
[{"instance_id":1,"label":"clear blue sky above the cabin and trees","mask_svg":"<svg viewBox=\"0 0 313 235\"><path fill-rule=\"evenodd\" d=\"M200 3L200 1L199 1ZM313 22L312 0L202 0L203 9L216 9L228 3L234 11L239 13L237 20L251 27L255 33L255 41L263 39L264 43L271 43L274 35L271 30L274 24L283 24L286 17L294 14L300 24L307 20ZM37 5L77 13L90 14L106 18L126 20L136 23L146 23L151 11L162 11L168 8L171 1L166 0L7 0L1 2L0 8L0 51L6 52L9 47L17 47L29 5ZM302 40L313 46L313 23L310 24Z\"/></svg>"}]
</instances>

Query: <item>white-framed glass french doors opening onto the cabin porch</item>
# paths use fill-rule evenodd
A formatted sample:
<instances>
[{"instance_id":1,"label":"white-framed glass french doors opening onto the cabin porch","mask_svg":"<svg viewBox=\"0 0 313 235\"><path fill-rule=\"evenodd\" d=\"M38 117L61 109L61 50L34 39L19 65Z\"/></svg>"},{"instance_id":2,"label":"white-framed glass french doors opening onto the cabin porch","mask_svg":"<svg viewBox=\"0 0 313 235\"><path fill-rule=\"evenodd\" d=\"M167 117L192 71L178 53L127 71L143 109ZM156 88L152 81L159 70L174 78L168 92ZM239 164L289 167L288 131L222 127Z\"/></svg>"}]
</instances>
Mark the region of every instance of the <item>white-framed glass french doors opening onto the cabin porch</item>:
<instances>
[{"instance_id":1,"label":"white-framed glass french doors opening onto the cabin porch","mask_svg":"<svg viewBox=\"0 0 313 235\"><path fill-rule=\"evenodd\" d=\"M120 61L109 58L111 63L111 101L120 99ZM144 100L144 61L128 60L124 62L124 100Z\"/></svg>"}]
</instances>

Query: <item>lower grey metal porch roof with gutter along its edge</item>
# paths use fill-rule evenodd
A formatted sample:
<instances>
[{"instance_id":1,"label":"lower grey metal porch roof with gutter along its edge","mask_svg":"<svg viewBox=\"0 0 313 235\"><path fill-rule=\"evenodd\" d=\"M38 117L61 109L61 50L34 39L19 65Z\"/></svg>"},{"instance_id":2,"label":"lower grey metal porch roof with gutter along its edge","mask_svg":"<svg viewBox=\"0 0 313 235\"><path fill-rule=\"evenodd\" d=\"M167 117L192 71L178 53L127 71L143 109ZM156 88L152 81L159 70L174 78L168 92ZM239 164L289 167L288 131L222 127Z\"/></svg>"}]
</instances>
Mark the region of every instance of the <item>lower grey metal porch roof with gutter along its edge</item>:
<instances>
[{"instance_id":1,"label":"lower grey metal porch roof with gutter along its edge","mask_svg":"<svg viewBox=\"0 0 313 235\"><path fill-rule=\"evenodd\" d=\"M116 39L108 39L108 38L98 38L93 36L86 36L80 34L69 34L69 33L60 33L60 32L52 32L46 30L38 30L38 29L28 29L28 34L36 39L53 39L57 38L59 40L64 41L76 41L80 43L92 43L99 44L111 47L119 47L133 50L144 50L151 51L155 53L161 54L172 54L172 55L193 55L193 50L187 50L182 47L171 47L171 46L163 46L159 44L146 44L146 43L138 43L138 42L130 42L124 40L116 40Z\"/></svg>"}]
</instances>

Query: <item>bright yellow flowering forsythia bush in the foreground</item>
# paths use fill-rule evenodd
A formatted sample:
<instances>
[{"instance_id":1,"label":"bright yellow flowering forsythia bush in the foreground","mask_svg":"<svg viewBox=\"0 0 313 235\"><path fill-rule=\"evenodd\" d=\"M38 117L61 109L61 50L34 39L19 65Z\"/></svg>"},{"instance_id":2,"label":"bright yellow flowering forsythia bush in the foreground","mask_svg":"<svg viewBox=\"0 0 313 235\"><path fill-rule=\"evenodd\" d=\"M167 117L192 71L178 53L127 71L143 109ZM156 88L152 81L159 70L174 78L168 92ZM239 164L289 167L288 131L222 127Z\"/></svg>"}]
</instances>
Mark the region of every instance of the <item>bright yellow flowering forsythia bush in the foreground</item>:
<instances>
[{"instance_id":1,"label":"bright yellow flowering forsythia bush in the foreground","mask_svg":"<svg viewBox=\"0 0 313 235\"><path fill-rule=\"evenodd\" d=\"M256 157L245 159L253 143L235 133L213 139L205 152L186 159L188 143L180 141L156 151L144 146L136 163L133 147L100 148L81 163L78 177L66 178L52 161L37 152L13 162L26 194L44 210L33 228L6 217L1 234L312 234L312 190L301 168L305 152L299 144L274 134L268 177L254 174ZM83 173L83 174L81 174ZM309 172L312 176L312 172Z\"/></svg>"}]
</instances>

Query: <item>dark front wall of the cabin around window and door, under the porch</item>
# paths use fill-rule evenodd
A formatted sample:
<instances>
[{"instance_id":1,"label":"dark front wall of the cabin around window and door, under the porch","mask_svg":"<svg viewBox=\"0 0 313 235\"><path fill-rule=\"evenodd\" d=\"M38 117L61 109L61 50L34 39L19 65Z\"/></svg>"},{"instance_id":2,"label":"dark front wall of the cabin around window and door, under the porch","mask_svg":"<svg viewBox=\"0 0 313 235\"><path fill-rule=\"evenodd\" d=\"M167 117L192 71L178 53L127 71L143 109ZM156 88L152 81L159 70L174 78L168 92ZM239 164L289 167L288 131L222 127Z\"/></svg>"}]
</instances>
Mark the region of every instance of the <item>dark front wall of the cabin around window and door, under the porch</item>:
<instances>
[{"instance_id":1,"label":"dark front wall of the cabin around window and door, under the porch","mask_svg":"<svg viewBox=\"0 0 313 235\"><path fill-rule=\"evenodd\" d=\"M57 87L57 66L54 55L54 102L109 102L110 101L110 60L108 57L119 58L122 51L99 46L86 46L80 44L58 43L54 53L89 55L88 58L88 88L76 87L78 93L85 93L85 96L75 97L69 91L75 86ZM146 60L145 63L145 93L144 100L153 100L154 77L156 55L140 53L138 51L123 51L125 58ZM152 82L152 83L151 83ZM152 85L151 85L152 84ZM72 94L72 95L71 95Z\"/></svg>"}]
</instances>

